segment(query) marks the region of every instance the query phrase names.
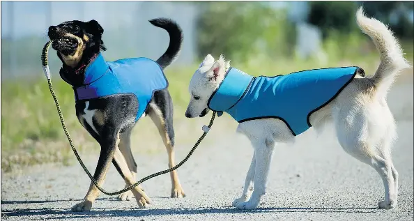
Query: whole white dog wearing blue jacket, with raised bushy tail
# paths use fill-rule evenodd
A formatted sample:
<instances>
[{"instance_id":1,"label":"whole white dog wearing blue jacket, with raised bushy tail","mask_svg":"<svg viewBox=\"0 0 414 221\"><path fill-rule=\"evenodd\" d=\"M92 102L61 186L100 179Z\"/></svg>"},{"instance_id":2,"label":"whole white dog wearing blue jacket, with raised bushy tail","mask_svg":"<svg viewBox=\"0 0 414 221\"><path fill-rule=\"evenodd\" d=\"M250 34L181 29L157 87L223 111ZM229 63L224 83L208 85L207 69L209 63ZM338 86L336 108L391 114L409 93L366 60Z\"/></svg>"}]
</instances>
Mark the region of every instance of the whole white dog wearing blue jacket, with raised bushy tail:
<instances>
[{"instance_id":1,"label":"whole white dog wearing blue jacket, with raised bushy tail","mask_svg":"<svg viewBox=\"0 0 414 221\"><path fill-rule=\"evenodd\" d=\"M188 118L205 116L208 109L228 112L239 122L237 132L246 135L254 146L254 155L247 172L243 194L233 201L233 206L252 209L259 205L266 190L275 143L293 142L300 132L307 130L310 126L314 126L318 131L325 123L328 123L327 121L334 123L337 139L346 153L370 165L380 174L385 188L385 200L378 203L379 208L390 209L397 205L398 173L392 164L390 154L397 132L394 118L385 98L394 77L410 65L404 59L403 52L392 35L392 31L385 24L374 18L365 17L362 8L356 13L356 21L362 32L374 41L381 54L381 63L373 76L364 77L363 70L358 67L322 69L321 75L328 74L332 70L332 75L336 76L330 79L334 89L329 89L329 82L318 83L318 86L315 84L312 87L310 84L312 79L310 83L309 80L305 80L307 78L305 74L309 76L314 71L309 72L310 74L308 72L291 74L296 76L293 77L293 81L296 81L294 84L299 86L291 86L290 89L300 91L302 90L300 85L305 87L311 85L310 89L318 91L321 85L323 90L328 90L328 97L323 98L325 101L314 96L312 90L306 91L305 96L302 95L302 99L298 102L280 96L270 98L267 92L261 95L263 91L271 91L270 93L276 95L279 93L277 90L284 90L275 86L283 85L274 80L279 76L256 78L246 75L236 68L231 68L229 61L225 61L222 56L215 61L213 56L208 54L192 76L189 86L191 98L185 116ZM231 78L230 75L235 78L233 82L236 84L228 80ZM305 81L304 84L298 82L298 79L301 79L300 76ZM323 76L330 78L329 75ZM325 78L322 81L326 80ZM280 79L283 81L284 78ZM274 84L266 85L266 82L274 82ZM222 87L226 89L221 89ZM220 90L229 90L229 92ZM287 91L289 96L294 93L289 89ZM217 93L220 94L220 98L215 98ZM320 95L323 93L319 90L317 96ZM296 98L299 99L300 96ZM263 103L263 99L267 102L262 107L256 107ZM316 104L312 104L313 101L309 104L302 104L302 102L313 99L317 100ZM241 105L239 105L240 102ZM294 105L304 106L308 115L299 113L298 119L294 116L286 119L289 118L289 112L295 112L292 108L295 106L290 105L291 102L296 102ZM309 111L312 105L316 105L314 106L316 108ZM243 107L246 106L247 111L244 111ZM289 110L287 113L284 111L285 106ZM302 109L302 107L299 106L297 109ZM269 113L273 111L276 114L284 114L284 116L269 116Z\"/></svg>"}]
</instances>

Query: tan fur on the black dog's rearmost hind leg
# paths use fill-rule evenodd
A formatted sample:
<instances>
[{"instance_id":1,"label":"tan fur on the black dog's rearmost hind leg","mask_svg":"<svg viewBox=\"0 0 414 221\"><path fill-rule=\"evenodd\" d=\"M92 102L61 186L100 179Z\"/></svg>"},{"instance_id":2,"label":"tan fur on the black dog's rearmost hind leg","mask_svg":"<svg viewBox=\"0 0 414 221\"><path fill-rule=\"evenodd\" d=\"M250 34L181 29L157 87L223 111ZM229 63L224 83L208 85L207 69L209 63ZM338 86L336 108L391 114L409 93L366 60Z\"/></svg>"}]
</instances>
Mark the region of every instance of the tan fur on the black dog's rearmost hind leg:
<instances>
[{"instance_id":1,"label":"tan fur on the black dog's rearmost hind leg","mask_svg":"<svg viewBox=\"0 0 414 221\"><path fill-rule=\"evenodd\" d=\"M155 125L158 128L158 132L160 132L160 135L162 137L162 141L164 142L165 148L167 148L168 153L168 167L172 168L176 166L175 162L175 153L174 153L174 146L172 146L171 141L169 140L169 136L167 133L167 130L165 130L165 122L162 117L162 112L158 107L155 107L155 105L151 105L153 112L150 112L150 117L155 123ZM171 197L174 198L181 198L185 197L185 193L183 191L183 188L181 187L180 179L178 178L178 173L176 170L169 173L171 177Z\"/></svg>"}]
</instances>

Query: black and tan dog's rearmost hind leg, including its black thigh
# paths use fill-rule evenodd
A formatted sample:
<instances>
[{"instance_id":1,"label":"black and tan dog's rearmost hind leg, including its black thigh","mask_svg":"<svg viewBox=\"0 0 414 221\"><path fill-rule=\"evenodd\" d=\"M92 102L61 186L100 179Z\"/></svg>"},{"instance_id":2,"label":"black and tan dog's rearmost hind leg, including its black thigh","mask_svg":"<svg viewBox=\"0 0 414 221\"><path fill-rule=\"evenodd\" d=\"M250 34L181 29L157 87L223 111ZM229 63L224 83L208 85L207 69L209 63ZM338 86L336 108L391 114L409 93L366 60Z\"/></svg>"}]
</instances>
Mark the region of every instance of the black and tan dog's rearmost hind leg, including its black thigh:
<instances>
[{"instance_id":1,"label":"black and tan dog's rearmost hind leg, including its black thigh","mask_svg":"<svg viewBox=\"0 0 414 221\"><path fill-rule=\"evenodd\" d=\"M162 142L164 142L165 148L167 148L168 167L175 167L173 107L171 96L167 91L156 91L154 102L150 103L149 107L148 115L157 126L158 132L160 132L162 137ZM177 170L174 170L169 174L171 176L171 197L185 197L180 180L178 179Z\"/></svg>"}]
</instances>

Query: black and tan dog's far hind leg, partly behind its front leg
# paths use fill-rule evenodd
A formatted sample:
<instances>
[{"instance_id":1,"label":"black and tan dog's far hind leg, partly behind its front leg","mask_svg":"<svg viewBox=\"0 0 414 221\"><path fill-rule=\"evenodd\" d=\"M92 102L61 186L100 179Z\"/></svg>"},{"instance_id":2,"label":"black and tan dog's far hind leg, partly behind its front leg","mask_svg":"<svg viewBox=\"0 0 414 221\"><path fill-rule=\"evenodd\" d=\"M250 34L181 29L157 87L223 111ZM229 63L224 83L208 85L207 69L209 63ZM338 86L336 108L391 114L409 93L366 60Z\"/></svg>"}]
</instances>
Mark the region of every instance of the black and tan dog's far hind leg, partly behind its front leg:
<instances>
[{"instance_id":1,"label":"black and tan dog's far hind leg, partly behind its front leg","mask_svg":"<svg viewBox=\"0 0 414 221\"><path fill-rule=\"evenodd\" d=\"M121 133L120 138L121 141L118 144L119 151L121 151L123 157L126 160L126 163L128 165L128 168L130 169L130 172L132 174L132 179L136 181L137 179L137 163L135 162L134 156L132 155L131 151L131 132L132 128L126 130L125 132ZM128 184L125 184L125 188L128 187ZM120 195L118 195L119 200L130 200L134 197L131 190L127 192L123 192Z\"/></svg>"}]
</instances>

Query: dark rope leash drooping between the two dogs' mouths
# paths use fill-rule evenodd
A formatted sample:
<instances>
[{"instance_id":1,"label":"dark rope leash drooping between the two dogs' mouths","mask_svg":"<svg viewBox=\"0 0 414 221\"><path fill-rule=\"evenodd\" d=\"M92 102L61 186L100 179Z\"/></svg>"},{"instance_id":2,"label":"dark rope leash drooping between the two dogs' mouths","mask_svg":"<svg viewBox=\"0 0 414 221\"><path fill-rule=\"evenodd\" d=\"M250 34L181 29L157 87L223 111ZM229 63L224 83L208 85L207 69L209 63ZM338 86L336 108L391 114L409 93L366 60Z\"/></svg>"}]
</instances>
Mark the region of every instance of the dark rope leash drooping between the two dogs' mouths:
<instances>
[{"instance_id":1,"label":"dark rope leash drooping between the two dogs' mouths","mask_svg":"<svg viewBox=\"0 0 414 221\"><path fill-rule=\"evenodd\" d=\"M84 171L86 172L86 174L88 174L89 178L91 178L91 181L93 182L93 184L96 186L96 188L98 188L98 190L100 190L101 192L103 192L105 195L109 195L109 196L114 196L114 195L119 195L123 192L127 192L128 190L131 190L132 188L135 188L137 185L143 183L144 181L153 178L155 176L160 176L162 174L167 174L171 171L174 171L176 169L178 169L178 167L181 167L181 165L183 165L192 155L192 153L195 151L195 149L197 148L197 146L199 146L199 144L201 143L201 141L204 139L204 137L206 137L208 131L210 130L211 126L213 125L213 121L215 118L215 114L216 112L213 112L213 115L211 116L210 119L210 123L208 123L208 126L204 125L203 126L203 135L201 135L201 137L199 138L199 140L197 140L196 144L194 144L194 146L192 147L192 149L190 150L190 152L187 154L187 156L184 158L184 160L181 160L181 162L178 163L178 165L176 165L175 167L163 170L161 172L155 173L155 174L151 174L149 176L146 176L144 178L141 178L141 180L139 180L137 183L128 186L127 188L124 188L123 190L119 190L116 192L107 192L107 190L104 190L103 188L100 187L100 185L96 182L95 178L93 178L92 174L89 172L88 168L86 168L86 166L84 165L84 162L82 162L82 159L80 158L79 154L77 153L75 146L73 145L72 139L70 138L68 129L66 128L66 124L65 121L63 120L63 115L61 112L61 107L59 105L59 102L56 98L56 95L53 91L53 87L52 87L52 77L50 75L50 70L49 70L49 65L48 65L48 61L47 61L47 54L49 52L49 47L52 44L52 40L50 40L49 42L46 43L45 47L43 47L43 51L42 51L42 66L43 66L43 71L46 75L47 78L47 84L49 84L49 90L50 93L52 93L52 97L54 100L54 103L56 104L56 108L59 114L59 118L61 119L61 123L62 123L62 127L63 130L65 131L66 137L68 137L68 141L70 144L70 147L72 148L73 153L75 153L75 156L77 158L77 160L79 161L80 165L82 166L82 168L84 169Z\"/></svg>"}]
</instances>

